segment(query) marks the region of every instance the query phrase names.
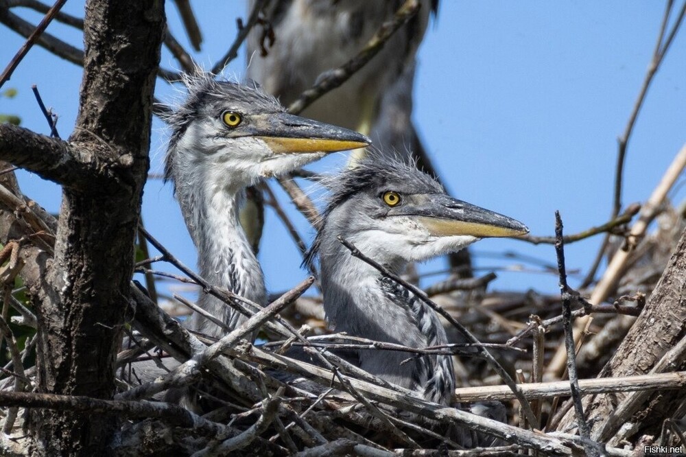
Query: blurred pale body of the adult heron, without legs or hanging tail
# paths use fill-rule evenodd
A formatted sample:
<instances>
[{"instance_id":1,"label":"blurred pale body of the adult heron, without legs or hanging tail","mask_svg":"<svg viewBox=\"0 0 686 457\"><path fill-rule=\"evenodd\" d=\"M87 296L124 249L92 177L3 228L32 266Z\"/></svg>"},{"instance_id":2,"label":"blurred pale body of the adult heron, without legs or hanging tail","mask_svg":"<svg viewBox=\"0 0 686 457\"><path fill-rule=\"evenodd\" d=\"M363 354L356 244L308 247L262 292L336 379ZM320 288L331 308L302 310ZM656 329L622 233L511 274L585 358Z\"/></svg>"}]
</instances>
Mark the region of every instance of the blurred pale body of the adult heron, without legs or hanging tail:
<instances>
[{"instance_id":1,"label":"blurred pale body of the adult heron, without legs or hanging tail","mask_svg":"<svg viewBox=\"0 0 686 457\"><path fill-rule=\"evenodd\" d=\"M285 105L313 86L324 72L362 51L403 0L282 0L265 10L274 43L265 48L259 27L248 36L249 78ZM305 110L314 119L369 133L379 102L408 65L436 11L438 1L421 0L420 10L362 69ZM252 11L255 0L248 2ZM267 52L263 55L262 49ZM411 87L409 88L411 91Z\"/></svg>"}]
</instances>

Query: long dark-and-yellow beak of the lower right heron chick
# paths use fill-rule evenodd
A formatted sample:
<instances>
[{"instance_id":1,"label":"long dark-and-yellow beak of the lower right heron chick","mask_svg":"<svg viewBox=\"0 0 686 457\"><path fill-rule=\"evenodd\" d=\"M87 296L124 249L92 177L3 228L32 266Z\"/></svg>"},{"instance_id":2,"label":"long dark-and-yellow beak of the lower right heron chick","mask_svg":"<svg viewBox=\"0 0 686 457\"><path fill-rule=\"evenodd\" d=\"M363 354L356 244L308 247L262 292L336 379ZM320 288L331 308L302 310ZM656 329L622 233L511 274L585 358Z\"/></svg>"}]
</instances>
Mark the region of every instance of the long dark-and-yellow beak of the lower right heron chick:
<instances>
[{"instance_id":1,"label":"long dark-and-yellow beak of the lower right heron chick","mask_svg":"<svg viewBox=\"0 0 686 457\"><path fill-rule=\"evenodd\" d=\"M397 214L416 217L434 236L518 237L529 233L527 226L517 220L447 195L416 198L418 202L403 205L402 213Z\"/></svg>"}]
</instances>

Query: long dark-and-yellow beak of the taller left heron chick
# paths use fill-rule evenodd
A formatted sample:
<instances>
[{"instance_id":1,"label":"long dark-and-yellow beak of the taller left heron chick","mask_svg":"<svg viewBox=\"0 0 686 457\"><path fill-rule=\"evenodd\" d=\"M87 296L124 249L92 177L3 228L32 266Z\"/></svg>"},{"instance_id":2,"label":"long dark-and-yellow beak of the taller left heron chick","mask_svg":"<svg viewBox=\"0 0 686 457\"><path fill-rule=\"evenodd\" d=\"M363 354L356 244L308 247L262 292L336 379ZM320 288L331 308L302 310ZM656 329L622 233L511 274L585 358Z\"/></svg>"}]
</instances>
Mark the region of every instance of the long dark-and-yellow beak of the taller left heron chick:
<instances>
[{"instance_id":1,"label":"long dark-and-yellow beak of the taller left heron chick","mask_svg":"<svg viewBox=\"0 0 686 457\"><path fill-rule=\"evenodd\" d=\"M277 154L364 148L371 140L346 128L287 113L254 117L254 134Z\"/></svg>"}]
</instances>

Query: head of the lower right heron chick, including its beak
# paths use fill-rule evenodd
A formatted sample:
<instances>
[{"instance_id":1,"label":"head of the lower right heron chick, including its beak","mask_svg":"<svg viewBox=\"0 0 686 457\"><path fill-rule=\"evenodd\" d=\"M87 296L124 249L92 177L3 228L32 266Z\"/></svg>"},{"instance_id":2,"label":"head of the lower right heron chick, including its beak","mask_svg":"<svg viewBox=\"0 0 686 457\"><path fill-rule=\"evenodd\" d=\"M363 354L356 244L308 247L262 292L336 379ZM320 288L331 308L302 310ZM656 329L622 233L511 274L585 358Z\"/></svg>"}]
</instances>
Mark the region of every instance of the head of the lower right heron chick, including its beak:
<instances>
[{"instance_id":1,"label":"head of the lower right heron chick, including its beak","mask_svg":"<svg viewBox=\"0 0 686 457\"><path fill-rule=\"evenodd\" d=\"M485 237L517 237L524 224L451 198L414 165L372 156L332 178L331 198L309 260L342 235L383 263L423 261ZM327 244L329 246L327 246Z\"/></svg>"}]
</instances>

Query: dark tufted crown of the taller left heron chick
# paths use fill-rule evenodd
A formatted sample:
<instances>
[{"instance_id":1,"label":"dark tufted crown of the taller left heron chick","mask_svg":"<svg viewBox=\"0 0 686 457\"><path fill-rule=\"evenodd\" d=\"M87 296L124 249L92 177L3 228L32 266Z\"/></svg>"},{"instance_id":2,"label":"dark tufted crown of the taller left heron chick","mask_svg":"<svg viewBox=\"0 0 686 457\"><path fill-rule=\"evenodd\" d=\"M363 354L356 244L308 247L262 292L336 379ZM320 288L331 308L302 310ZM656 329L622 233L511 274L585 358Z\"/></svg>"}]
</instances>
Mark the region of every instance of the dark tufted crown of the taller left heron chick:
<instances>
[{"instance_id":1,"label":"dark tufted crown of the taller left heron chick","mask_svg":"<svg viewBox=\"0 0 686 457\"><path fill-rule=\"evenodd\" d=\"M220 116L225 110L235 110L241 114L283 113L285 108L279 100L263 91L254 81L239 84L230 81L217 81L215 75L199 71L196 75L183 75L187 96L178 106L163 117L169 125L171 134L165 163L165 181L171 178L173 167L172 151L186 132L191 122L204 115Z\"/></svg>"}]
</instances>

